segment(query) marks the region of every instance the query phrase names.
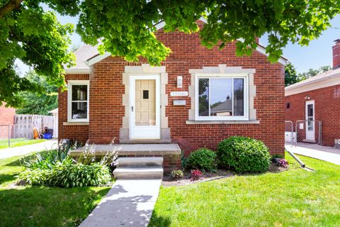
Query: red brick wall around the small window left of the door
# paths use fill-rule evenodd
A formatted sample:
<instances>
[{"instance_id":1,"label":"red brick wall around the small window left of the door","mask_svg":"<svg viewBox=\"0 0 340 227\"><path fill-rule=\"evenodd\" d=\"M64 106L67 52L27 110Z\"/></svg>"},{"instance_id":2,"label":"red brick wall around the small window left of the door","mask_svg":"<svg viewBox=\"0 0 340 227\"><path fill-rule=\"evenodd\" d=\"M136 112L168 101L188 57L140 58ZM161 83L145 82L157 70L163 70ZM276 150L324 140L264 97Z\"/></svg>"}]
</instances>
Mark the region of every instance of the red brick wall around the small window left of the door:
<instances>
[{"instance_id":1,"label":"red brick wall around the small window left of the door","mask_svg":"<svg viewBox=\"0 0 340 227\"><path fill-rule=\"evenodd\" d=\"M65 80L89 79L89 74L67 74ZM67 122L67 91L58 94L58 137L85 143L89 139L89 126L64 125Z\"/></svg>"}]
</instances>

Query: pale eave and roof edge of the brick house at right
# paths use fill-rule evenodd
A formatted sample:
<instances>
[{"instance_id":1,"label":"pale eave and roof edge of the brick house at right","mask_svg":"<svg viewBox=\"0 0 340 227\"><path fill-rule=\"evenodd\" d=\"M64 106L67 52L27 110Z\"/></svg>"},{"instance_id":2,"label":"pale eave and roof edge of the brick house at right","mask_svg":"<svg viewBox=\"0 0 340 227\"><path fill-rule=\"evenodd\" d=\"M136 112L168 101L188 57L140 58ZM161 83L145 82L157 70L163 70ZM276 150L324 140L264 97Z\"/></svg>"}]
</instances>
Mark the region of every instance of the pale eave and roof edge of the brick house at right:
<instances>
[{"instance_id":1,"label":"pale eave and roof edge of the brick house at right","mask_svg":"<svg viewBox=\"0 0 340 227\"><path fill-rule=\"evenodd\" d=\"M317 74L314 77L285 87L285 96L330 87L336 84L340 84L340 68Z\"/></svg>"}]
</instances>

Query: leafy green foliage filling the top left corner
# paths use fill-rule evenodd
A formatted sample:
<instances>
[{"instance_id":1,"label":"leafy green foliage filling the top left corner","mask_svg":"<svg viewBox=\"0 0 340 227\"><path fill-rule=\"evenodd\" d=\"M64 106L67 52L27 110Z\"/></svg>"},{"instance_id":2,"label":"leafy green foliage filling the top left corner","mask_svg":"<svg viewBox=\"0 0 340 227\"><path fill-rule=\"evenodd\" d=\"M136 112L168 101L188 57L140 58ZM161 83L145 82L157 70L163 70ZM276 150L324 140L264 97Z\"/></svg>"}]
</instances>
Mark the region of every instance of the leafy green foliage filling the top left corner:
<instances>
[{"instance_id":1,"label":"leafy green foliage filling the top left corner","mask_svg":"<svg viewBox=\"0 0 340 227\"><path fill-rule=\"evenodd\" d=\"M60 13L79 12L77 1L71 0L0 0L0 102L9 106L23 104L21 92L45 92L38 82L16 72L16 59L57 86L64 86L64 65L74 62L74 55L68 50L73 25L62 25L55 13L42 9L41 3Z\"/></svg>"}]
</instances>

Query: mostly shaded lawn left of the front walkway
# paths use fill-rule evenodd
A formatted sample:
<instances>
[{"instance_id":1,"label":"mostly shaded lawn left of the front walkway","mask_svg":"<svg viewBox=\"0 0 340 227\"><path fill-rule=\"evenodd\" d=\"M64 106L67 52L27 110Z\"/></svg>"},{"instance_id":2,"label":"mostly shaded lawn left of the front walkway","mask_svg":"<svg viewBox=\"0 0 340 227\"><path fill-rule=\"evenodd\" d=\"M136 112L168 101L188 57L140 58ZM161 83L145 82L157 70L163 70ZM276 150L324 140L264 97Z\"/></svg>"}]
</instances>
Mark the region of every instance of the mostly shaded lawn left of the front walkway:
<instances>
[{"instance_id":1,"label":"mostly shaded lawn left of the front walkway","mask_svg":"<svg viewBox=\"0 0 340 227\"><path fill-rule=\"evenodd\" d=\"M21 158L0 160L0 226L78 226L110 189L16 186Z\"/></svg>"}]
</instances>

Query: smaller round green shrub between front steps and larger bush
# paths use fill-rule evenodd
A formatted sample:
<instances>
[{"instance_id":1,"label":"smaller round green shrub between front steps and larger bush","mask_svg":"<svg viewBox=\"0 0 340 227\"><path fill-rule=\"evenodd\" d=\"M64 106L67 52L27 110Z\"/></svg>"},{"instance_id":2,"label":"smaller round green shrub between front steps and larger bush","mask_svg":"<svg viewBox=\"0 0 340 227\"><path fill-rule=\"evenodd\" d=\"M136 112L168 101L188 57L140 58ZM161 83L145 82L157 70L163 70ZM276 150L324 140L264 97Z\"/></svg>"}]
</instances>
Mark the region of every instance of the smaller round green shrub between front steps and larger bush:
<instances>
[{"instance_id":1,"label":"smaller round green shrub between front steps and larger bush","mask_svg":"<svg viewBox=\"0 0 340 227\"><path fill-rule=\"evenodd\" d=\"M188 156L186 165L191 169L216 171L216 153L208 148L195 150Z\"/></svg>"}]
</instances>

